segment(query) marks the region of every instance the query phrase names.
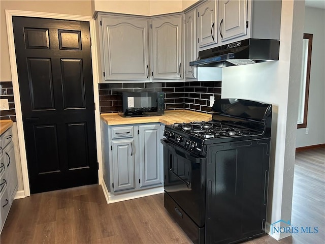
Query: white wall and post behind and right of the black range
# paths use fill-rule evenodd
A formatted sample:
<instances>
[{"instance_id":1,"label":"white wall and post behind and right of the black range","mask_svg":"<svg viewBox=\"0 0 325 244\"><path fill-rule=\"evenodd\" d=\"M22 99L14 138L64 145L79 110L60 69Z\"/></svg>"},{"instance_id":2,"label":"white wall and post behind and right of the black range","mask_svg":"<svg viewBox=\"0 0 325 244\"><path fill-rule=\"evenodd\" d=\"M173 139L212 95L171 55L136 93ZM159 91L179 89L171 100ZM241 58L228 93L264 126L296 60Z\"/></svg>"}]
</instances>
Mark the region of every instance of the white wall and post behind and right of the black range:
<instances>
[{"instance_id":1,"label":"white wall and post behind and right of the black range","mask_svg":"<svg viewBox=\"0 0 325 244\"><path fill-rule=\"evenodd\" d=\"M304 10L304 1L282 1L279 61L222 70L222 98L273 105L268 225L291 219Z\"/></svg>"}]
</instances>

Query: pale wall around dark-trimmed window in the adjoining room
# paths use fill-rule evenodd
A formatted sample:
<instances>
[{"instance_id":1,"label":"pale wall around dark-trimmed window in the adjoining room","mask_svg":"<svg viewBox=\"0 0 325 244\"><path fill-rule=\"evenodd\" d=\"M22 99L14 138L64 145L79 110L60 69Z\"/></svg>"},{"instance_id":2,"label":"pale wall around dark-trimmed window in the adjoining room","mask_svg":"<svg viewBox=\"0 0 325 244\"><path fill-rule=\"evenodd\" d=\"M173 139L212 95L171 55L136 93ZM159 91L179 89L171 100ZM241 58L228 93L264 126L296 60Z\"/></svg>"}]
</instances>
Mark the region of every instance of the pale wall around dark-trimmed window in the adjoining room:
<instances>
[{"instance_id":1,"label":"pale wall around dark-trimmed window in the adjoining room","mask_svg":"<svg viewBox=\"0 0 325 244\"><path fill-rule=\"evenodd\" d=\"M306 7L304 33L313 34L307 128L297 130L296 147L325 143L325 9Z\"/></svg>"}]
</instances>

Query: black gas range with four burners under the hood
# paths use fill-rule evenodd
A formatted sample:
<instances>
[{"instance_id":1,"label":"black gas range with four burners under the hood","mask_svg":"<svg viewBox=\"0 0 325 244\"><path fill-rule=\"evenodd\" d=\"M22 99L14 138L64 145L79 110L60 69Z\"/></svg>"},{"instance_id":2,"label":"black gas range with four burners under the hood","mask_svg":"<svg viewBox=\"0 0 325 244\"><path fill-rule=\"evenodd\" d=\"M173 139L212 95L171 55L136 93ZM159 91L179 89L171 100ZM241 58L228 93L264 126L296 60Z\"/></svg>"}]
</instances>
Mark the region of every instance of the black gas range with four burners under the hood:
<instances>
[{"instance_id":1,"label":"black gas range with four burners under the hood","mask_svg":"<svg viewBox=\"0 0 325 244\"><path fill-rule=\"evenodd\" d=\"M165 207L194 243L265 233L272 105L219 99L211 121L165 126Z\"/></svg>"}]
</instances>

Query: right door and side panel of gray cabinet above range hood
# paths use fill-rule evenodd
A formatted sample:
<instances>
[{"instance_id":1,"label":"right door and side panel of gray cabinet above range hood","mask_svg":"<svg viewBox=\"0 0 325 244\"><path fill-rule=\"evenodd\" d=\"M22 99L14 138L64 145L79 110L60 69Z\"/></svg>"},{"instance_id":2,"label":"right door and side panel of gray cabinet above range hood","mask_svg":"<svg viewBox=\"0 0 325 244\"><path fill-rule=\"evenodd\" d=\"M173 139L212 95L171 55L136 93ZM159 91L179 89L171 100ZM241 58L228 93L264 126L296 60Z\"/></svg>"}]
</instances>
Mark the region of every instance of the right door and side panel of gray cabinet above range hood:
<instances>
[{"instance_id":1,"label":"right door and side panel of gray cabinet above range hood","mask_svg":"<svg viewBox=\"0 0 325 244\"><path fill-rule=\"evenodd\" d=\"M247 38L279 40L281 7L273 0L218 1L218 46Z\"/></svg>"}]
</instances>

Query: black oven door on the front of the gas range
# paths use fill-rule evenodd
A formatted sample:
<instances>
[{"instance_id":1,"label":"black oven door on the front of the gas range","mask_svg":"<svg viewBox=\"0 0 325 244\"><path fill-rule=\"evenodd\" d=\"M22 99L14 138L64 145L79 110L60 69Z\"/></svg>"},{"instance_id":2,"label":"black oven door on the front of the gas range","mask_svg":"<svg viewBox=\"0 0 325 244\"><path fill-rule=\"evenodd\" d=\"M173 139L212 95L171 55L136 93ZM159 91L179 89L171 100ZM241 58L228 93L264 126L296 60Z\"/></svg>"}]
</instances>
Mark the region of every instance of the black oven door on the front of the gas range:
<instances>
[{"instance_id":1,"label":"black oven door on the front of the gas range","mask_svg":"<svg viewBox=\"0 0 325 244\"><path fill-rule=\"evenodd\" d=\"M203 227L206 159L166 139L162 139L161 143L164 144L165 192L198 227Z\"/></svg>"}]
</instances>

